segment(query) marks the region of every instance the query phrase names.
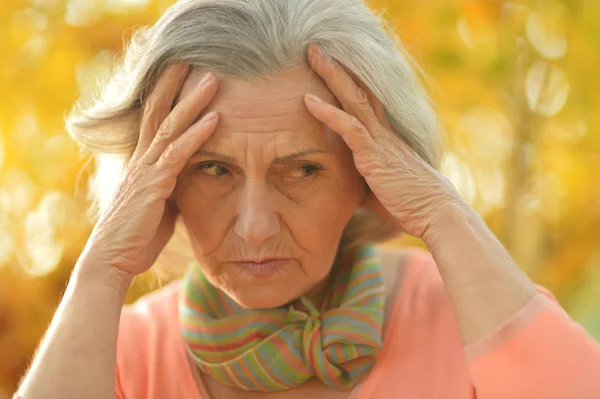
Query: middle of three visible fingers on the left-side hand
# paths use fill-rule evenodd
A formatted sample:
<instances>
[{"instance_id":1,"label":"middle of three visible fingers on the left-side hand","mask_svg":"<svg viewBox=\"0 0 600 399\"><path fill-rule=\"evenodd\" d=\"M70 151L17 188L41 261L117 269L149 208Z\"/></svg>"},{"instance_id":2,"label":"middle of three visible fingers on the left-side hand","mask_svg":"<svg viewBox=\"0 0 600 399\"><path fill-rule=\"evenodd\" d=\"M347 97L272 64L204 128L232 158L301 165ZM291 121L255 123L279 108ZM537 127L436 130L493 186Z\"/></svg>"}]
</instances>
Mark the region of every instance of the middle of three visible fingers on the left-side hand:
<instances>
[{"instance_id":1,"label":"middle of three visible fingers on the left-side hand","mask_svg":"<svg viewBox=\"0 0 600 399\"><path fill-rule=\"evenodd\" d=\"M142 157L142 162L151 165L158 161L167 146L198 119L198 115L210 104L216 92L216 79L209 72L196 85L193 92L175 106L160 125L150 148Z\"/></svg>"}]
</instances>

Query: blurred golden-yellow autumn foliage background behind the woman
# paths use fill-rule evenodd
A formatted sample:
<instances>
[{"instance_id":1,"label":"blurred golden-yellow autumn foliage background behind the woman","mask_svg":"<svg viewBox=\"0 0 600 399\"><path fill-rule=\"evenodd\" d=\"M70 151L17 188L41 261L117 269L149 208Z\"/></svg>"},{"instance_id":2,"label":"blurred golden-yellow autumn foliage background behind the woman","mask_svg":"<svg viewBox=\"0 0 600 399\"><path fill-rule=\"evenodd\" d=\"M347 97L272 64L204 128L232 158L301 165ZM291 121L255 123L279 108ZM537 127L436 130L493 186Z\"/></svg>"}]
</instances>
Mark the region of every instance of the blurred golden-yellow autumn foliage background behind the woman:
<instances>
[{"instance_id":1,"label":"blurred golden-yellow autumn foliage background behind the woman","mask_svg":"<svg viewBox=\"0 0 600 399\"><path fill-rule=\"evenodd\" d=\"M63 118L172 0L0 2L0 399L92 225ZM519 265L600 339L600 1L372 0L429 76L444 172ZM390 245L419 245L401 238ZM134 284L132 301L152 289Z\"/></svg>"}]
</instances>

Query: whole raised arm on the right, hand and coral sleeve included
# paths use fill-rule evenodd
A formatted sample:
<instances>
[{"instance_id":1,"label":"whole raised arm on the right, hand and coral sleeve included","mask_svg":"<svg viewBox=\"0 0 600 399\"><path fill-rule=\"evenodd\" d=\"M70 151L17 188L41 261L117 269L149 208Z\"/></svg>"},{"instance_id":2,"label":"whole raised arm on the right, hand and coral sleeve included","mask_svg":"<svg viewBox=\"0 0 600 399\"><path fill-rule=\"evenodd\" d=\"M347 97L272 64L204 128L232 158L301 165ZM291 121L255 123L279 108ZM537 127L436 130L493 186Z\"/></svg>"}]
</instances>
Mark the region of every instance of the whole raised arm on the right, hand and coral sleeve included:
<instances>
[{"instance_id":1,"label":"whole raised arm on the right, hand and coral sleeve included","mask_svg":"<svg viewBox=\"0 0 600 399\"><path fill-rule=\"evenodd\" d=\"M364 206L425 241L467 352L484 338L498 343L496 350L470 359L477 392L485 398L600 398L598 344L556 303L539 299L543 294L537 294L451 182L393 129L383 104L364 82L316 45L307 55L342 108L313 95L306 96L306 107L352 150L370 188ZM529 317L515 319L524 309ZM509 340L497 339L509 335Z\"/></svg>"}]
</instances>

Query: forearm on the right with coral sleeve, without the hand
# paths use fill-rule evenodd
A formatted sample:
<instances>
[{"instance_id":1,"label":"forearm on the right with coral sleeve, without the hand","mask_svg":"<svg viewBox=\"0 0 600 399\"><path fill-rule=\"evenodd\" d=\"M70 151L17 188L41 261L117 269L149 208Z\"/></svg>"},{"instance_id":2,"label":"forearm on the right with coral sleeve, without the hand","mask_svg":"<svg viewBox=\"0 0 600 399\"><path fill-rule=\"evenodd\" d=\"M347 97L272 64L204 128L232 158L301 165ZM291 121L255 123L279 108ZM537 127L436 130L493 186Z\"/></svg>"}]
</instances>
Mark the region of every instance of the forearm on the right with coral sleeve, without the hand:
<instances>
[{"instance_id":1,"label":"forearm on the right with coral sleeve, without the hand","mask_svg":"<svg viewBox=\"0 0 600 399\"><path fill-rule=\"evenodd\" d=\"M423 238L451 298L478 397L600 398L600 345L530 282L471 208L444 212Z\"/></svg>"}]
</instances>

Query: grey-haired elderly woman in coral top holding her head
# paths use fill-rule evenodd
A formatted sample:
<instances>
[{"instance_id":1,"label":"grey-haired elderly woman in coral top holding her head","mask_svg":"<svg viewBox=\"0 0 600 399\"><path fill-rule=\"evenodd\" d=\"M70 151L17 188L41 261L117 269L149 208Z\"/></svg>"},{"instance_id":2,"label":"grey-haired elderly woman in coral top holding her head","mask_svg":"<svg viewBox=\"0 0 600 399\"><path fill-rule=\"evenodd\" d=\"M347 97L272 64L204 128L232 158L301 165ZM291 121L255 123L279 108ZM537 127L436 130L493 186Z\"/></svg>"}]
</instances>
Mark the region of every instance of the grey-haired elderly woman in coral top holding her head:
<instances>
[{"instance_id":1,"label":"grey-haired elderly woman in coral top holding her head","mask_svg":"<svg viewBox=\"0 0 600 399\"><path fill-rule=\"evenodd\" d=\"M597 344L437 172L386 27L358 0L184 0L140 31L68 120L127 164L17 395L600 398ZM178 220L194 262L123 307ZM403 232L431 255L376 245Z\"/></svg>"}]
</instances>

